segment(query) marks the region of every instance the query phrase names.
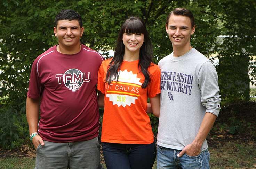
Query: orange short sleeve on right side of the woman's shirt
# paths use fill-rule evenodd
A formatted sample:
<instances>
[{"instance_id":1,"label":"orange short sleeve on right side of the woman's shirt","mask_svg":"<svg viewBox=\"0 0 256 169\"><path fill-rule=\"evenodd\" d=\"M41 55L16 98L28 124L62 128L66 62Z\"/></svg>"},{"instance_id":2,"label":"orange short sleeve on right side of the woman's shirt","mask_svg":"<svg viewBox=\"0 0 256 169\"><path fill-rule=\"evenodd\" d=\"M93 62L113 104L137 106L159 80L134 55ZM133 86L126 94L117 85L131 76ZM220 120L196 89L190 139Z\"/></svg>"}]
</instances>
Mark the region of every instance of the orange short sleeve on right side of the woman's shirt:
<instances>
[{"instance_id":1,"label":"orange short sleeve on right side of the woman's shirt","mask_svg":"<svg viewBox=\"0 0 256 169\"><path fill-rule=\"evenodd\" d=\"M149 98L155 97L157 94L161 92L160 89L160 78L161 78L161 70L157 65L153 74L151 74L151 82L147 88L147 95Z\"/></svg>"}]
</instances>

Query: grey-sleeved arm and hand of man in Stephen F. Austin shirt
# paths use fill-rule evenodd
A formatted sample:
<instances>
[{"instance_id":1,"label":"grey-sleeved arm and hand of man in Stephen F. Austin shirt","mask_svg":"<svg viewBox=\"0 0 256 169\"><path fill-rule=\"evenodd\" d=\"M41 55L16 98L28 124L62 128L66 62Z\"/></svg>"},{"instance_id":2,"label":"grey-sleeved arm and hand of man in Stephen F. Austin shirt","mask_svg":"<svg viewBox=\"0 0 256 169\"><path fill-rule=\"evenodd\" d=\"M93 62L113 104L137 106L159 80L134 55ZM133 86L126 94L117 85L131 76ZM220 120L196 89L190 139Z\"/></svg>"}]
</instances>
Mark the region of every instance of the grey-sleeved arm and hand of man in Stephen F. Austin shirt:
<instances>
[{"instance_id":1,"label":"grey-sleeved arm and hand of man in Stephen F. Austin shirt","mask_svg":"<svg viewBox=\"0 0 256 169\"><path fill-rule=\"evenodd\" d=\"M199 131L193 142L178 154L182 156L184 153L190 156L200 154L203 141L206 139L213 124L219 114L221 96L219 95L218 76L211 62L205 62L198 74L199 88L201 90L201 102L205 106L206 112L201 122Z\"/></svg>"}]
</instances>

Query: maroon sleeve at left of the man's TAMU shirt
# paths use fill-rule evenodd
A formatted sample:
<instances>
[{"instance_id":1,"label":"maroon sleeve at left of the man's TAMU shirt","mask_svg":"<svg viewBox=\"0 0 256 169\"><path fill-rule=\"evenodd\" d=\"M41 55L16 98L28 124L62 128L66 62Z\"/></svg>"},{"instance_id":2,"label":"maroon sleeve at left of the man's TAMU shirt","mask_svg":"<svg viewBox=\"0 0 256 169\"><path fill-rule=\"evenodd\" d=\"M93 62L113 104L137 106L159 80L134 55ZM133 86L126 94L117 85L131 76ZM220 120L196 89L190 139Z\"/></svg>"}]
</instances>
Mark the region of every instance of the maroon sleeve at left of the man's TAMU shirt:
<instances>
[{"instance_id":1,"label":"maroon sleeve at left of the man's TAMU shirt","mask_svg":"<svg viewBox=\"0 0 256 169\"><path fill-rule=\"evenodd\" d=\"M36 59L32 64L32 69L30 72L30 79L29 79L29 90L27 92L27 97L32 99L38 99L43 89L43 86L40 82L38 71L37 71L37 63L38 63L38 59Z\"/></svg>"}]
</instances>

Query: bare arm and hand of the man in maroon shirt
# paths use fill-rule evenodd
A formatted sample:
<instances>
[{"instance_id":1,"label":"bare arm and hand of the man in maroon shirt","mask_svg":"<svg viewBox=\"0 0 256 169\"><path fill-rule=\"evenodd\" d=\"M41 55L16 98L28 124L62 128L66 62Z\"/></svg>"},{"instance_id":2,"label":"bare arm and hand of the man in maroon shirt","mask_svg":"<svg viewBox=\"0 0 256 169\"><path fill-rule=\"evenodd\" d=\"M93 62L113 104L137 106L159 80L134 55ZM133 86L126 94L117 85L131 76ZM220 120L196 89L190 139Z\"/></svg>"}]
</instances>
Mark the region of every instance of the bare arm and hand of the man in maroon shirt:
<instances>
[{"instance_id":1,"label":"bare arm and hand of the man in maroon shirt","mask_svg":"<svg viewBox=\"0 0 256 169\"><path fill-rule=\"evenodd\" d=\"M27 97L26 101L26 116L27 116L27 123L29 124L29 133L37 132L38 126L38 118L39 118L39 99L32 99ZM42 137L36 135L32 139L32 143L37 149L38 145L41 144L42 146L45 145L43 143Z\"/></svg>"}]
</instances>

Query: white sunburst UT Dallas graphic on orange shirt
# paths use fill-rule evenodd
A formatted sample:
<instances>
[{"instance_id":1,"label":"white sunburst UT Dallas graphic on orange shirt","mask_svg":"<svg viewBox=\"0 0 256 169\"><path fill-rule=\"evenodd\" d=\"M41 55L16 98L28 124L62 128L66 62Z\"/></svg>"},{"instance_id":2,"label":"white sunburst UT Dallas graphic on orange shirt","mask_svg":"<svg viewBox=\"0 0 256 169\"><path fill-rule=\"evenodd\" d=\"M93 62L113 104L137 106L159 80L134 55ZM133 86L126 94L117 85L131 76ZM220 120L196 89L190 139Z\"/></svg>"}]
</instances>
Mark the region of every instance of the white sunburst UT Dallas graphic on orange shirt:
<instances>
[{"instance_id":1,"label":"white sunburst UT Dallas graphic on orange shirt","mask_svg":"<svg viewBox=\"0 0 256 169\"><path fill-rule=\"evenodd\" d=\"M127 70L119 71L118 81L113 81L112 89L107 91L106 97L109 101L112 101L113 105L125 107L135 104L135 100L139 97L139 89L141 88L141 82L136 74ZM113 77L114 79L114 77Z\"/></svg>"}]
</instances>

